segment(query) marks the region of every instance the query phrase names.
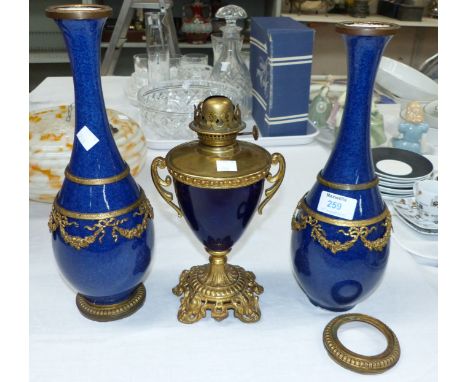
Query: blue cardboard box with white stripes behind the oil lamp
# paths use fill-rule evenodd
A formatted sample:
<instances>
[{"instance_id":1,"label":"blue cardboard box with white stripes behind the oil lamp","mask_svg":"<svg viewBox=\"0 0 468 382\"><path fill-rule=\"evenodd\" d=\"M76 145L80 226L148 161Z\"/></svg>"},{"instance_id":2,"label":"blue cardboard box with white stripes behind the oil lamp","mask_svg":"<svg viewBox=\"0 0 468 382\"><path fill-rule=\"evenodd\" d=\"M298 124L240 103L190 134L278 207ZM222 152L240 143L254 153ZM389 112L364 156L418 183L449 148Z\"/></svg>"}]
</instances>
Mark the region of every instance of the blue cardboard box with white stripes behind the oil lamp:
<instances>
[{"instance_id":1,"label":"blue cardboard box with white stripes behind the oil lamp","mask_svg":"<svg viewBox=\"0 0 468 382\"><path fill-rule=\"evenodd\" d=\"M252 17L252 116L263 136L307 133L314 35L289 17Z\"/></svg>"}]
</instances>

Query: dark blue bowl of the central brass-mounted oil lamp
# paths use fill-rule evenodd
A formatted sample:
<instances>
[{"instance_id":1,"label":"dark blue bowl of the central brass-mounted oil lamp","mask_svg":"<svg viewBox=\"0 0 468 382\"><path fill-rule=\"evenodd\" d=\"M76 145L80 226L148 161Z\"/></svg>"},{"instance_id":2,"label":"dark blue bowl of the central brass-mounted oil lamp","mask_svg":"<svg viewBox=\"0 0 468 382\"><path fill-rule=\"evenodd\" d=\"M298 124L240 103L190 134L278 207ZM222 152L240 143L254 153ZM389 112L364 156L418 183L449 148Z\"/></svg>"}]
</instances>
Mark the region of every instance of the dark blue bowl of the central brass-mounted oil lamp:
<instances>
[{"instance_id":1,"label":"dark blue bowl of the central brass-mounted oil lamp","mask_svg":"<svg viewBox=\"0 0 468 382\"><path fill-rule=\"evenodd\" d=\"M215 251L230 249L249 224L263 191L262 179L254 184L230 189L189 186L177 180L174 188L190 228Z\"/></svg>"}]
</instances>

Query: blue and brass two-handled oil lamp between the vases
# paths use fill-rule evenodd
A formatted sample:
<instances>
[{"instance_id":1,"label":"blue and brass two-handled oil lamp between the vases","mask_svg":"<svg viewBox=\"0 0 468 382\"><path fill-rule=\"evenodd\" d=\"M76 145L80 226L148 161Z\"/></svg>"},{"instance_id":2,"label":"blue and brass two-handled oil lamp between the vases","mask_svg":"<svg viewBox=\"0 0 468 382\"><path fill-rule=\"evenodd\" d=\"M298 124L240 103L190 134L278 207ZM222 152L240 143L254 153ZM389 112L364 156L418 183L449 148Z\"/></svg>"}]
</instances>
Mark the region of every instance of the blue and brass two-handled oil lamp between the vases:
<instances>
[{"instance_id":1,"label":"blue and brass two-handled oil lamp between the vases","mask_svg":"<svg viewBox=\"0 0 468 382\"><path fill-rule=\"evenodd\" d=\"M179 321L190 324L211 315L217 320L234 316L243 322L260 319L258 294L263 288L255 275L243 268L227 264L227 255L242 235L255 210L262 212L284 177L285 162L281 154L270 154L252 143L238 142L237 135L245 128L239 106L226 97L209 97L195 108L190 128L199 141L174 147L166 158L157 157L151 166L156 189L179 214L210 254L210 263L182 272L174 294L182 296ZM278 173L270 167L278 164ZM166 179L158 169L168 169ZM164 187L174 179L179 202ZM265 190L265 179L273 185Z\"/></svg>"}]
</instances>

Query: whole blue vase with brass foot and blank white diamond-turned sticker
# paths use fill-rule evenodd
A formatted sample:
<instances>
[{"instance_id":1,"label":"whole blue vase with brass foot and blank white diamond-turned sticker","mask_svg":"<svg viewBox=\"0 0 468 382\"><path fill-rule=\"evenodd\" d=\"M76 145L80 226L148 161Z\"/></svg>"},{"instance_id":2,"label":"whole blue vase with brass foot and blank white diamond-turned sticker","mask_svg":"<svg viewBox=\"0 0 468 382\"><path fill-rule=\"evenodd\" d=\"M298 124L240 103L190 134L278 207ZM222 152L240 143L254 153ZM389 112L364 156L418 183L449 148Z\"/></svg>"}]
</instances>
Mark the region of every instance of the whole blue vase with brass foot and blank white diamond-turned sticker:
<instances>
[{"instance_id":1,"label":"whole blue vase with brass foot and blank white diamond-turned sticker","mask_svg":"<svg viewBox=\"0 0 468 382\"><path fill-rule=\"evenodd\" d=\"M153 210L112 137L100 80L100 41L112 10L99 5L47 8L68 48L76 126L65 180L49 219L60 270L79 292L80 312L123 318L145 300L143 277L154 241Z\"/></svg>"}]
</instances>

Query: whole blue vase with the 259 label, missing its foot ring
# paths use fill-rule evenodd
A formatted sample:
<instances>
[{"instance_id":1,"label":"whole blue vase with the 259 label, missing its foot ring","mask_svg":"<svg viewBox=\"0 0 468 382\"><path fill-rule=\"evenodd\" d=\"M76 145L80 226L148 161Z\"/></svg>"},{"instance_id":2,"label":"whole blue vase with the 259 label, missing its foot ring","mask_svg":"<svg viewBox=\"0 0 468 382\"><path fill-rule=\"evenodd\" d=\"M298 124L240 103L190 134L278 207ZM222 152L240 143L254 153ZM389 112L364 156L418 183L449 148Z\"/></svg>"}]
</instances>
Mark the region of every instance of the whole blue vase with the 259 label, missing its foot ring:
<instances>
[{"instance_id":1,"label":"whole blue vase with the 259 label, missing its foot ring","mask_svg":"<svg viewBox=\"0 0 468 382\"><path fill-rule=\"evenodd\" d=\"M348 86L340 132L317 182L292 218L296 279L309 300L346 311L369 296L388 261L390 213L378 190L370 150L370 113L382 52L398 26L342 23Z\"/></svg>"}]
</instances>

